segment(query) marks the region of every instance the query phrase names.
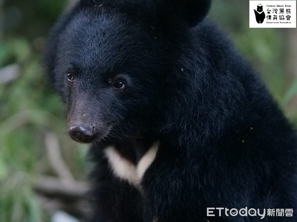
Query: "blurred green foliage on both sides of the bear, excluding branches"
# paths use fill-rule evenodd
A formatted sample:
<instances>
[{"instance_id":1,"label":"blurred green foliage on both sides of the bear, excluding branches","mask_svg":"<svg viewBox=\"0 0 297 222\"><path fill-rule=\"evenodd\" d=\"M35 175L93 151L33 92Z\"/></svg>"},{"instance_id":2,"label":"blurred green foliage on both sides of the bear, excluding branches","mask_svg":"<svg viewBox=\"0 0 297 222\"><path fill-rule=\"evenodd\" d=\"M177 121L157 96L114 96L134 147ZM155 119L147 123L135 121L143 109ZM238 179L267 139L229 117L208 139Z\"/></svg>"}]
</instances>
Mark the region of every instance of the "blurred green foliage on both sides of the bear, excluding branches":
<instances>
[{"instance_id":1,"label":"blurred green foliage on both sides of the bear, excluding branches","mask_svg":"<svg viewBox=\"0 0 297 222\"><path fill-rule=\"evenodd\" d=\"M20 70L12 81L0 82L1 222L49 220L50 212L42 208L32 186L40 174L57 176L47 159L44 141L48 131L58 138L63 158L75 179L86 177L87 148L68 139L64 105L53 93L40 63L49 28L66 3L0 0L0 16L4 18L0 23L0 68L14 64ZM286 73L287 32L249 29L245 0L213 0L210 17L234 39L287 111L288 102L297 91L297 81L288 84L290 73ZM296 115L290 117L297 123Z\"/></svg>"}]
</instances>

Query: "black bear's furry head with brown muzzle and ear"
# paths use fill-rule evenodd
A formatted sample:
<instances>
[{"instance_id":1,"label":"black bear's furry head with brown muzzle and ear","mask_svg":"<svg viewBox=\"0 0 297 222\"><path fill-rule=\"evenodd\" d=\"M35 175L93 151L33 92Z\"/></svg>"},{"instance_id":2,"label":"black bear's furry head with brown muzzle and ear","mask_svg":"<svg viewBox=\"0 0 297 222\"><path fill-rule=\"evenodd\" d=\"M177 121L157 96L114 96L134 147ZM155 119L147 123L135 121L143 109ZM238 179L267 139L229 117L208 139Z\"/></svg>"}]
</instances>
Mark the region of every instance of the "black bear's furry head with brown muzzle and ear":
<instances>
[{"instance_id":1,"label":"black bear's furry head with brown muzzle and ear","mask_svg":"<svg viewBox=\"0 0 297 222\"><path fill-rule=\"evenodd\" d=\"M179 39L210 0L81 0L55 25L46 70L66 102L67 128L81 143L149 133L173 76ZM164 102L165 101L165 102Z\"/></svg>"}]
</instances>

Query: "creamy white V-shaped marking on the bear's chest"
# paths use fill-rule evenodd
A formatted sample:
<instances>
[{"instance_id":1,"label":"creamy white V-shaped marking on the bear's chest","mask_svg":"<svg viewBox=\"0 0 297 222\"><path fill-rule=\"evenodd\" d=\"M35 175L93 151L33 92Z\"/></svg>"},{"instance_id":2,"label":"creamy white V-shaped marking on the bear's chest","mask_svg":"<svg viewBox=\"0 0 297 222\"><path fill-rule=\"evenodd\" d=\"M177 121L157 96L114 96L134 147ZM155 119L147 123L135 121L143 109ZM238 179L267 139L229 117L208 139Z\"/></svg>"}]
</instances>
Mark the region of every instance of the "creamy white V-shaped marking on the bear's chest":
<instances>
[{"instance_id":1,"label":"creamy white V-shaped marking on the bear's chest","mask_svg":"<svg viewBox=\"0 0 297 222\"><path fill-rule=\"evenodd\" d=\"M154 143L139 160L137 165L121 156L114 147L105 148L104 153L115 176L122 180L127 180L132 185L138 186L148 167L155 159L158 147L159 143Z\"/></svg>"}]
</instances>

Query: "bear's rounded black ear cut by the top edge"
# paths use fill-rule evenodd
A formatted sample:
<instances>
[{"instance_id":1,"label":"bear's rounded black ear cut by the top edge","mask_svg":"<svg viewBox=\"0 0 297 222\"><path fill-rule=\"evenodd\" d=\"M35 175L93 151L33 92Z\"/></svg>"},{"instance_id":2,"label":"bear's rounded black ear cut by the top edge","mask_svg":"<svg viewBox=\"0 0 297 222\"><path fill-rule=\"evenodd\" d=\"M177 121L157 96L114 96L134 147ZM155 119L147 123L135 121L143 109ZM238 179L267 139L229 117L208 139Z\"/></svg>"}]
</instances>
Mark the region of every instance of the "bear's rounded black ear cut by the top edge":
<instances>
[{"instance_id":1,"label":"bear's rounded black ear cut by the top edge","mask_svg":"<svg viewBox=\"0 0 297 222\"><path fill-rule=\"evenodd\" d=\"M211 0L165 0L170 20L179 19L190 27L197 25L207 15L210 4Z\"/></svg>"}]
</instances>

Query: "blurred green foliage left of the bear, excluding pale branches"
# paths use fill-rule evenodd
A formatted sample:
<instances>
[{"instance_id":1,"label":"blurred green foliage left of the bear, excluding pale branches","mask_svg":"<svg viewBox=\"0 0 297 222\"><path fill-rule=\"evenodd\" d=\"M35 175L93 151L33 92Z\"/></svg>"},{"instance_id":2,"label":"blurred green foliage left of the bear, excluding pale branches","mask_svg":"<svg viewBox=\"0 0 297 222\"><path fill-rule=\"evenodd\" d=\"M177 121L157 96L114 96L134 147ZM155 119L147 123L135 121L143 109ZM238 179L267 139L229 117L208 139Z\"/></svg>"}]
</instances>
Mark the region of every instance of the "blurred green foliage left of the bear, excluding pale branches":
<instances>
[{"instance_id":1,"label":"blurred green foliage left of the bear, excluding pale branches","mask_svg":"<svg viewBox=\"0 0 297 222\"><path fill-rule=\"evenodd\" d=\"M32 188L37 175L56 176L44 142L48 131L59 139L74 177L86 177L86 147L68 139L63 103L53 93L40 63L45 37L65 3L9 0L0 7L4 15L0 68L15 64L20 70L13 81L0 83L1 222L49 220Z\"/></svg>"}]
</instances>

